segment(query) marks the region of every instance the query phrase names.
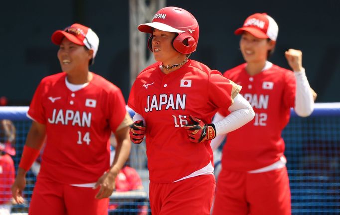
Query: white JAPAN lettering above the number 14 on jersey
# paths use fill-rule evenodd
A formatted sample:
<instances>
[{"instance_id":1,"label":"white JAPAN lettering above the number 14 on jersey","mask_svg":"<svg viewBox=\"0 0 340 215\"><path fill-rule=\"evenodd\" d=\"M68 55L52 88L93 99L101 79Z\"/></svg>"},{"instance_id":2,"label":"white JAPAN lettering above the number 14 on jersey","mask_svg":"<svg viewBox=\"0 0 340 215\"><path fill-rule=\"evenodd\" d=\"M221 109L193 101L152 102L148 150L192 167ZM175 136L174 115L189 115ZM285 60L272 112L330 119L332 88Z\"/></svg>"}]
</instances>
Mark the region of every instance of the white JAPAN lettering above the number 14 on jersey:
<instances>
[{"instance_id":1,"label":"white JAPAN lettering above the number 14 on jersey","mask_svg":"<svg viewBox=\"0 0 340 215\"><path fill-rule=\"evenodd\" d=\"M53 109L52 118L48 118L48 122L51 124L62 124L62 125L78 125L79 127L91 127L91 116L92 113Z\"/></svg>"}]
</instances>

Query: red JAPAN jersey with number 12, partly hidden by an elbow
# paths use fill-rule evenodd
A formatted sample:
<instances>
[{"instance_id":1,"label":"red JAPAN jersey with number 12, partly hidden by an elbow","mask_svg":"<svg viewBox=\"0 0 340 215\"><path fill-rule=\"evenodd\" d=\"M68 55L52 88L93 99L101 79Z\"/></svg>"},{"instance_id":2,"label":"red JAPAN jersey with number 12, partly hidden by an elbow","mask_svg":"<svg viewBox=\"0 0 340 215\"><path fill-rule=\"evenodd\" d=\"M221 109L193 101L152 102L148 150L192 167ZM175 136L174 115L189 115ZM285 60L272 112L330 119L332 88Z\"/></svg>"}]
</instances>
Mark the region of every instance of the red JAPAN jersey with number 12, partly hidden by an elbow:
<instances>
[{"instance_id":1,"label":"red JAPAN jersey with number 12, partly hidden by an elbow","mask_svg":"<svg viewBox=\"0 0 340 215\"><path fill-rule=\"evenodd\" d=\"M254 76L241 64L223 75L243 86L240 94L254 109L255 117L228 133L222 166L234 171L259 169L278 161L285 150L281 131L295 104L296 80L290 70L272 65ZM226 109L220 110L227 115Z\"/></svg>"}]
</instances>

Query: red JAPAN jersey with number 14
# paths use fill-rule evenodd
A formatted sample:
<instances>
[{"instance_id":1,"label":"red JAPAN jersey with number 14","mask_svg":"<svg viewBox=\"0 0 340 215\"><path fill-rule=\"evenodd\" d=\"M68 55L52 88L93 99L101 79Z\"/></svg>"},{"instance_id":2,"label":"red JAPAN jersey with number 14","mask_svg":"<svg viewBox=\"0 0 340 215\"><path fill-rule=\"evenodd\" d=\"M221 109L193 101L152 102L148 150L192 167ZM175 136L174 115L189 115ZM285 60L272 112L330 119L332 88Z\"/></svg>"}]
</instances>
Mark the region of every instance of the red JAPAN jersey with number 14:
<instances>
[{"instance_id":1,"label":"red JAPAN jersey with number 14","mask_svg":"<svg viewBox=\"0 0 340 215\"><path fill-rule=\"evenodd\" d=\"M46 125L38 177L93 183L109 168L109 138L122 126L125 101L120 89L99 75L74 92L65 81L64 72L44 78L28 110L28 116Z\"/></svg>"}]
</instances>

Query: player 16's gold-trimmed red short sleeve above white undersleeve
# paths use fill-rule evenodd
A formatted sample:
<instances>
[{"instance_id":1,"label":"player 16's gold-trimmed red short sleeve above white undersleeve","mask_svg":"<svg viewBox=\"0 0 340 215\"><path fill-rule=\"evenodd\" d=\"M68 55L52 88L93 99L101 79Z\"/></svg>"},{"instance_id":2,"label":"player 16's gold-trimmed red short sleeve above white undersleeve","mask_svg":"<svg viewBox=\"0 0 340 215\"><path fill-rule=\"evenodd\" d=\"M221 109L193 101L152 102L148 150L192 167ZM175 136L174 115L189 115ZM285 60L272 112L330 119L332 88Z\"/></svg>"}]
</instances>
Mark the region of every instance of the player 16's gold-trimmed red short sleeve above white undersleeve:
<instances>
[{"instance_id":1,"label":"player 16's gold-trimmed red short sleeve above white undersleeve","mask_svg":"<svg viewBox=\"0 0 340 215\"><path fill-rule=\"evenodd\" d=\"M220 72L213 70L209 77L209 101L218 108L228 109L241 88L241 86L222 76Z\"/></svg>"}]
</instances>

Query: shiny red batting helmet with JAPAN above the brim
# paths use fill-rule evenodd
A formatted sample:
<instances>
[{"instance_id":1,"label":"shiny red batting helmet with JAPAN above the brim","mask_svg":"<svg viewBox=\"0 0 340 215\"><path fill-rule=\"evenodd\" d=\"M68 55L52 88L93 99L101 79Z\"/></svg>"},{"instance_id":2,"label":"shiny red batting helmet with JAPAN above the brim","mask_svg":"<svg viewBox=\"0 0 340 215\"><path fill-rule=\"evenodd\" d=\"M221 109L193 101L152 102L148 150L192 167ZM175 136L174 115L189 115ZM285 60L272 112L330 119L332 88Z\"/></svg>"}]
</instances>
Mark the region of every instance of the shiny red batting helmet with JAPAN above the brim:
<instances>
[{"instance_id":1,"label":"shiny red batting helmet with JAPAN above the brim","mask_svg":"<svg viewBox=\"0 0 340 215\"><path fill-rule=\"evenodd\" d=\"M160 9L152 19L151 23L140 24L138 30L144 33L153 33L153 29L178 33L173 40L173 47L180 53L190 54L196 51L199 26L195 17L188 11L178 7L164 7ZM152 51L151 40L148 48Z\"/></svg>"}]
</instances>

